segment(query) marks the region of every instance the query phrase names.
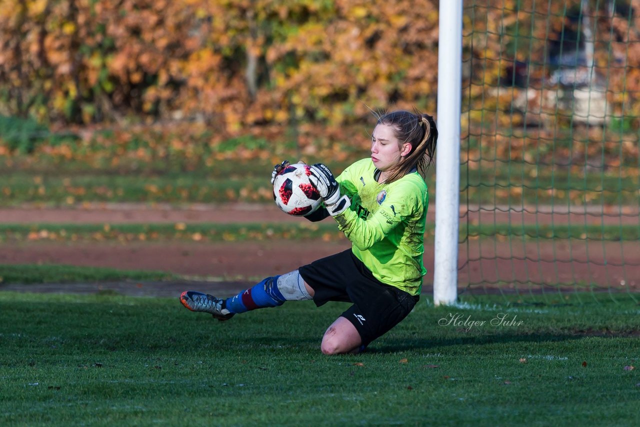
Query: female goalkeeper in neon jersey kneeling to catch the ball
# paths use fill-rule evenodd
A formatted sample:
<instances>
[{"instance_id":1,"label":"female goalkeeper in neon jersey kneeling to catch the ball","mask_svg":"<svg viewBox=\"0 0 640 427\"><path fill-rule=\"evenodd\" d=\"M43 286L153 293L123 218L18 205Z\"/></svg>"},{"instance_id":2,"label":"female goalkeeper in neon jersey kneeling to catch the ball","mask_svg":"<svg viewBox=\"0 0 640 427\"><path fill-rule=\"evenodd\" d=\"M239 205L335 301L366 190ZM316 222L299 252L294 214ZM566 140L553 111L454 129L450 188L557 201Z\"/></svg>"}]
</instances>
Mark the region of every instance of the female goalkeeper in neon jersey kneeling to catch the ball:
<instances>
[{"instance_id":1,"label":"female goalkeeper in neon jersey kneeling to catch the ball","mask_svg":"<svg viewBox=\"0 0 640 427\"><path fill-rule=\"evenodd\" d=\"M351 302L324 333L324 354L357 353L402 321L419 300L429 196L424 176L438 140L433 117L392 111L378 118L371 157L338 177L322 163L310 181L324 207L306 218L332 216L352 248L262 280L231 298L185 291L180 302L220 320L285 301ZM276 165L271 182L287 166Z\"/></svg>"}]
</instances>

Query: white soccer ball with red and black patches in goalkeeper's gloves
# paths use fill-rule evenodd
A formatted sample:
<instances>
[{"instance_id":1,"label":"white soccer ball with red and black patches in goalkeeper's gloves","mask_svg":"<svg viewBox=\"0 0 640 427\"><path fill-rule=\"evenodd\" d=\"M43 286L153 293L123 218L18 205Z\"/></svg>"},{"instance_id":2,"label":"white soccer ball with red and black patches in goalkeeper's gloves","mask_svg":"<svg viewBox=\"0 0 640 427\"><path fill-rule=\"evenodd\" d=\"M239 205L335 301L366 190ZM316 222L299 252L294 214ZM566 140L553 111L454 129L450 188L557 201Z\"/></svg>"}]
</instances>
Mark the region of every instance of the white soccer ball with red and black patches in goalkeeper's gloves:
<instances>
[{"instance_id":1,"label":"white soccer ball with red and black patches in goalkeeper's gloves","mask_svg":"<svg viewBox=\"0 0 640 427\"><path fill-rule=\"evenodd\" d=\"M322 202L317 189L309 181L309 165L289 165L276 175L273 181L273 199L284 213L307 216L316 211Z\"/></svg>"}]
</instances>

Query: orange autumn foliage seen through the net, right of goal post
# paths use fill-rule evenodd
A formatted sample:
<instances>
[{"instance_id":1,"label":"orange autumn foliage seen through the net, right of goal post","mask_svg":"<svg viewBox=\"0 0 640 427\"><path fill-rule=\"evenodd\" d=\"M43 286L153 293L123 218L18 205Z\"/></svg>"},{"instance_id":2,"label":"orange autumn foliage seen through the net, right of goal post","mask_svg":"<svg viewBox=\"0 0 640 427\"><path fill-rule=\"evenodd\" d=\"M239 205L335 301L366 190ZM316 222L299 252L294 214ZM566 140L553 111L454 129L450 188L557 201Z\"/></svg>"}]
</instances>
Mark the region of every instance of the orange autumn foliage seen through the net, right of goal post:
<instances>
[{"instance_id":1,"label":"orange autumn foliage seen through the net, right of goal post","mask_svg":"<svg viewBox=\"0 0 640 427\"><path fill-rule=\"evenodd\" d=\"M484 124L511 129L523 124L552 130L567 127L580 118L570 99L573 88L561 88L552 74L559 68L551 58L554 42L570 60L578 58L575 40L591 33L593 70L588 66L566 66L569 75L589 76L589 97L604 93L607 117L637 120L640 114L640 0L589 0L581 10L580 0L536 2L505 1L496 6L490 0L475 0L465 13L463 58L467 65L464 85L465 109L482 111ZM614 10L609 6L617 5ZM584 4L582 4L584 6ZM466 31L466 29L469 31ZM584 31L587 28L589 31ZM570 35L570 33L573 33ZM565 43L561 43L565 38ZM573 38L574 42L566 43ZM583 51L586 49L583 47ZM557 53L557 52L556 52ZM516 61L525 64L526 88L504 86ZM585 85L584 82L577 86ZM587 85L585 85L587 86ZM588 90L588 89L584 89ZM568 99L568 102L563 101ZM514 115L515 113L515 115ZM476 117L476 123L479 121Z\"/></svg>"}]
</instances>

